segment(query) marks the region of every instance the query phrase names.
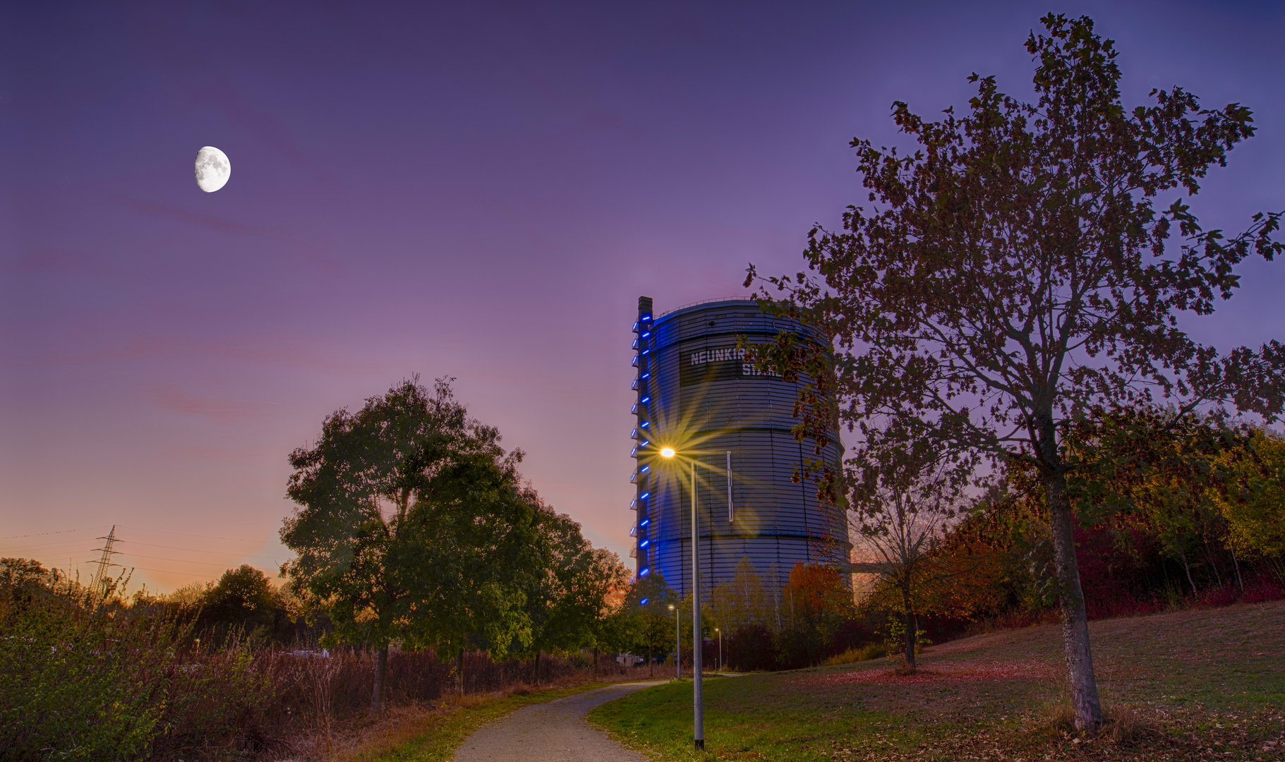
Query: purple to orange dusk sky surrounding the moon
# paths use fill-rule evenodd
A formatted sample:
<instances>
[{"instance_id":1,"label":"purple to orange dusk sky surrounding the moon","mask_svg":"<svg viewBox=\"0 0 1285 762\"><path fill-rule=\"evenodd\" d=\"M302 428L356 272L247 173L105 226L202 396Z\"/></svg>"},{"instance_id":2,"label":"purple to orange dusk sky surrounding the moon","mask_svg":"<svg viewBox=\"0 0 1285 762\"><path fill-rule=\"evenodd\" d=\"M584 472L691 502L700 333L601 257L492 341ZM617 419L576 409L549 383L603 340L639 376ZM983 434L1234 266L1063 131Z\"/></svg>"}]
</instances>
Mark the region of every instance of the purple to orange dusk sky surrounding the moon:
<instances>
[{"instance_id":1,"label":"purple to orange dusk sky surrounding the moon","mask_svg":"<svg viewBox=\"0 0 1285 762\"><path fill-rule=\"evenodd\" d=\"M423 5L0 5L0 555L86 562L114 523L134 587L272 571L289 451L414 373L623 555L636 297L798 270L864 198L848 140L903 144L889 104L974 71L1028 93L1049 9ZM1117 40L1128 104L1255 112L1207 226L1285 208L1279 4L1056 10ZM1285 338L1282 265L1192 332Z\"/></svg>"}]
</instances>

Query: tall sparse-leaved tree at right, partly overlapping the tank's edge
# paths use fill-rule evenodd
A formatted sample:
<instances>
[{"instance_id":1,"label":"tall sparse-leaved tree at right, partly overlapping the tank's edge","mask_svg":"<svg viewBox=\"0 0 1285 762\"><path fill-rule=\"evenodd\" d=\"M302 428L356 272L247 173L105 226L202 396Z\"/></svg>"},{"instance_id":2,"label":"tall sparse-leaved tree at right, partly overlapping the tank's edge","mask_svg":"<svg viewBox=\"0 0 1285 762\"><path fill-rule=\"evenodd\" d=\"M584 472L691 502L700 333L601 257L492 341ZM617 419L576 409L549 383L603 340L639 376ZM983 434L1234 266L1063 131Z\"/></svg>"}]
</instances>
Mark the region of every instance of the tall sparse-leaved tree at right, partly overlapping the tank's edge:
<instances>
[{"instance_id":1,"label":"tall sparse-leaved tree at right, partly overlapping the tank's edge","mask_svg":"<svg viewBox=\"0 0 1285 762\"><path fill-rule=\"evenodd\" d=\"M816 278L767 284L786 290L777 310L833 341L834 362L789 337L759 359L813 379L799 398L801 429L821 443L842 415L858 433L858 463L928 438L961 470L984 460L1034 465L1076 727L1095 730L1101 708L1074 529L1097 517L1072 508L1061 438L1091 405L1158 397L1182 411L1273 420L1285 402L1285 346L1219 355L1181 330L1178 315L1212 312L1235 290L1239 262L1285 247L1273 239L1279 213L1255 215L1228 238L1203 230L1182 197L1254 134L1248 108L1205 109L1174 87L1128 111L1113 42L1092 21L1050 14L1042 23L1047 36L1027 40L1036 103L973 75L965 116L946 109L930 122L893 105L917 141L912 153L853 140L871 207L848 207L842 231L813 229L806 257ZM1162 198L1173 200L1163 207ZM1173 234L1185 243L1173 245ZM754 278L750 267L747 284Z\"/></svg>"}]
</instances>

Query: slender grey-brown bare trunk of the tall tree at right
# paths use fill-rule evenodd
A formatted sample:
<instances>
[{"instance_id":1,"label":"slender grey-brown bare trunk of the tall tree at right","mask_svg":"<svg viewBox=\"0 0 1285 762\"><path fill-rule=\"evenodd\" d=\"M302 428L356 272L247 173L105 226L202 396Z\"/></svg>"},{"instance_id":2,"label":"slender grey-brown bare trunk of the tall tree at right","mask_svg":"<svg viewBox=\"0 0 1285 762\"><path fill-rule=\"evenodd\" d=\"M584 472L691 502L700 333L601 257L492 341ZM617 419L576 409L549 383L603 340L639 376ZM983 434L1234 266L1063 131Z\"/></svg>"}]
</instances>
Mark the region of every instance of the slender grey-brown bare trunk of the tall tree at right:
<instances>
[{"instance_id":1,"label":"slender grey-brown bare trunk of the tall tree at right","mask_svg":"<svg viewBox=\"0 0 1285 762\"><path fill-rule=\"evenodd\" d=\"M1067 496L1067 477L1061 473L1051 423L1042 434L1045 499L1049 501L1049 520L1052 526L1061 637L1070 678L1070 709L1076 717L1076 730L1096 731L1103 726L1103 707L1097 698L1094 655L1088 648L1088 614L1085 610L1085 591L1079 586L1079 563L1076 560L1076 514Z\"/></svg>"}]
</instances>

